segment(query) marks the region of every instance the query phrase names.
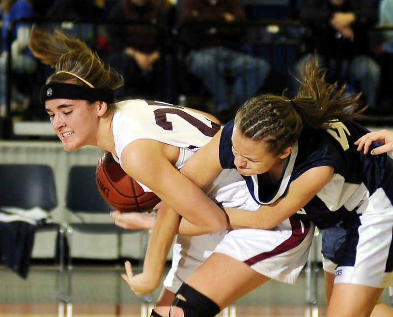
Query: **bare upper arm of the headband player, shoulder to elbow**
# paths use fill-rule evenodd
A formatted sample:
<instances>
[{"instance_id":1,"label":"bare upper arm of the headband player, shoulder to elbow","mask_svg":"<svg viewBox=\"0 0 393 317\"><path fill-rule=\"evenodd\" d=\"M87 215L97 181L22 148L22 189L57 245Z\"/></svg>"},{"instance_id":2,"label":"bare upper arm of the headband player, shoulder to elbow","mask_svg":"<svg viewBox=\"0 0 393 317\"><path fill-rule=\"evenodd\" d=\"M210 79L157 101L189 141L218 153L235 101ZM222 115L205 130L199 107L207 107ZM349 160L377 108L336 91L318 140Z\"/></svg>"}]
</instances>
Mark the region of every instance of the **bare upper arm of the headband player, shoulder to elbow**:
<instances>
[{"instance_id":1,"label":"bare upper arm of the headband player, shoulder to elbow","mask_svg":"<svg viewBox=\"0 0 393 317\"><path fill-rule=\"evenodd\" d=\"M152 190L170 208L198 228L199 233L226 229L225 213L168 159L167 146L154 140L139 140L122 153L125 172ZM124 159L123 159L124 158ZM203 217L195 211L203 210Z\"/></svg>"}]
</instances>

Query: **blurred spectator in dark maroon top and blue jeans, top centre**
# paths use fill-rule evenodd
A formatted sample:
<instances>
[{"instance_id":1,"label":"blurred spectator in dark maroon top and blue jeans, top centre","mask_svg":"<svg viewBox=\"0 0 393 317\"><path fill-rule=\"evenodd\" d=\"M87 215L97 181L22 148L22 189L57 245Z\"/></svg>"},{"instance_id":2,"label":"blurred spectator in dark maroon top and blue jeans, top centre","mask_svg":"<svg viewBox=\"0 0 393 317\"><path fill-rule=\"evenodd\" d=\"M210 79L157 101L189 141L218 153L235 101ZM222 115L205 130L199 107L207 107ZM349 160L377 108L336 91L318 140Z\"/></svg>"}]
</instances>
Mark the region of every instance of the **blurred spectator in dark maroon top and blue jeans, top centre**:
<instances>
[{"instance_id":1,"label":"blurred spectator in dark maroon top and blue jeans, top centre","mask_svg":"<svg viewBox=\"0 0 393 317\"><path fill-rule=\"evenodd\" d=\"M183 0L180 22L246 21L239 0ZM239 105L256 94L270 71L262 58L243 52L244 29L235 26L186 25L182 33L187 71L213 95L216 115L232 119Z\"/></svg>"}]
</instances>

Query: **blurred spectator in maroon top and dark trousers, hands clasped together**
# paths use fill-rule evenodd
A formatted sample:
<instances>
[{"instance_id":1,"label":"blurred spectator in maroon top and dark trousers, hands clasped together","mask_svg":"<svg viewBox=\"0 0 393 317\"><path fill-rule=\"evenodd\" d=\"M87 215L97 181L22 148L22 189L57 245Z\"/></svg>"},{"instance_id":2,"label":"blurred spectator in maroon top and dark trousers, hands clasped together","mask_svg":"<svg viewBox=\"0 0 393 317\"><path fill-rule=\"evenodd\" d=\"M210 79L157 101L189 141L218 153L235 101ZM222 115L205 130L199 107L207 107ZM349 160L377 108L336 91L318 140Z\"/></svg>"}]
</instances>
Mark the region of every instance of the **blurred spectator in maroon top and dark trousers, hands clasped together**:
<instances>
[{"instance_id":1,"label":"blurred spectator in maroon top and dark trousers, hands clasped together","mask_svg":"<svg viewBox=\"0 0 393 317\"><path fill-rule=\"evenodd\" d=\"M164 5L168 3L120 0L109 14L109 19L121 22L109 25L107 30L108 63L123 75L125 82L115 91L117 99L125 96L159 97L162 94L163 52L169 35L169 9L164 9Z\"/></svg>"}]
</instances>

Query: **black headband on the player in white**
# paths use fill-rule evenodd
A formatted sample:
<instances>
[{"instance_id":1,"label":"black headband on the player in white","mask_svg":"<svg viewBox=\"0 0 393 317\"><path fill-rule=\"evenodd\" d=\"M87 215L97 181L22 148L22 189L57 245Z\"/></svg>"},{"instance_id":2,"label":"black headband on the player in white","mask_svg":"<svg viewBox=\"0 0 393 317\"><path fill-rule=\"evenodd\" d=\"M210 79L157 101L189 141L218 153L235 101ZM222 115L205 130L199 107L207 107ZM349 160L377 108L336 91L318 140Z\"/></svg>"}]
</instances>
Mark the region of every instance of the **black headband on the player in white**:
<instances>
[{"instance_id":1,"label":"black headband on the player in white","mask_svg":"<svg viewBox=\"0 0 393 317\"><path fill-rule=\"evenodd\" d=\"M52 83L41 87L40 101L48 99L73 99L114 102L112 89L97 89L75 84Z\"/></svg>"}]
</instances>

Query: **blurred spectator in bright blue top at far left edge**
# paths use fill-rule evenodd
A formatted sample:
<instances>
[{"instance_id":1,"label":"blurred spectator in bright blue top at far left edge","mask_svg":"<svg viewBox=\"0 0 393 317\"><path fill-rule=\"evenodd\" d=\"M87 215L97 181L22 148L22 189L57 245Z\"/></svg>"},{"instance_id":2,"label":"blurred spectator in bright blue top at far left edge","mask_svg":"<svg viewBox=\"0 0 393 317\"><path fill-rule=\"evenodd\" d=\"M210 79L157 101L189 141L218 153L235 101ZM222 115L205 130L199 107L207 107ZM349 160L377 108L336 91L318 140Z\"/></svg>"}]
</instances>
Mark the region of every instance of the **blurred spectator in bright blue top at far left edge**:
<instances>
[{"instance_id":1,"label":"blurred spectator in bright blue top at far left edge","mask_svg":"<svg viewBox=\"0 0 393 317\"><path fill-rule=\"evenodd\" d=\"M21 18L34 17L29 0L0 0L1 11L1 55L0 55L0 116L6 114L6 94L7 94L7 45L11 45L11 72L13 74L32 74L34 73L37 60L32 56L28 49L28 39L31 24L18 23L7 38L8 27L13 21ZM10 41L11 43L9 43ZM11 80L11 78L10 78ZM16 83L11 80L11 110L22 112L26 110L30 103L30 98L21 93Z\"/></svg>"}]
</instances>

